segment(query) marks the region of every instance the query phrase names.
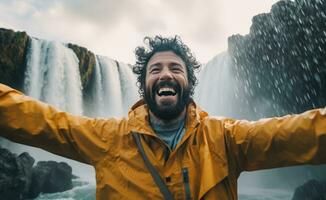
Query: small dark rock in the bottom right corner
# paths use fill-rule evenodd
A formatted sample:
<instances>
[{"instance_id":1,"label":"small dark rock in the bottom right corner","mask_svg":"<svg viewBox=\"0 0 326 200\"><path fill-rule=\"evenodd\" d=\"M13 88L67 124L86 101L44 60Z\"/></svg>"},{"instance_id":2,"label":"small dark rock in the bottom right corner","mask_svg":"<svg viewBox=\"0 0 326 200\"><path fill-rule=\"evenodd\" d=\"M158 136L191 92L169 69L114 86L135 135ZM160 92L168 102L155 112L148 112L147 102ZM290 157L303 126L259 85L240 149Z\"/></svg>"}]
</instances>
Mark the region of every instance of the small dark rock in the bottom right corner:
<instances>
[{"instance_id":1,"label":"small dark rock in the bottom right corner","mask_svg":"<svg viewBox=\"0 0 326 200\"><path fill-rule=\"evenodd\" d=\"M326 200L326 181L310 180L297 187L292 200Z\"/></svg>"}]
</instances>

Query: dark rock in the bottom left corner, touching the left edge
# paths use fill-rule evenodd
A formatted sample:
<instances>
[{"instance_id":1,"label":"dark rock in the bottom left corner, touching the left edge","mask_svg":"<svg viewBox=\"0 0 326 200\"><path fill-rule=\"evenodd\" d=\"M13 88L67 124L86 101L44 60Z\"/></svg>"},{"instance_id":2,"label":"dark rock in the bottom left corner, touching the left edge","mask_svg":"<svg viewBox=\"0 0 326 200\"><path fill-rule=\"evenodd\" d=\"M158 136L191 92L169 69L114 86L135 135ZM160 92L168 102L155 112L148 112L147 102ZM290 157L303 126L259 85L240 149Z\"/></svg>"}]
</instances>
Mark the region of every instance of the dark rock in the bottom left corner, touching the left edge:
<instances>
[{"instance_id":1,"label":"dark rock in the bottom left corner, touching the left edge","mask_svg":"<svg viewBox=\"0 0 326 200\"><path fill-rule=\"evenodd\" d=\"M34 159L23 153L19 157L0 148L0 197L23 199L30 186L31 168Z\"/></svg>"}]
</instances>

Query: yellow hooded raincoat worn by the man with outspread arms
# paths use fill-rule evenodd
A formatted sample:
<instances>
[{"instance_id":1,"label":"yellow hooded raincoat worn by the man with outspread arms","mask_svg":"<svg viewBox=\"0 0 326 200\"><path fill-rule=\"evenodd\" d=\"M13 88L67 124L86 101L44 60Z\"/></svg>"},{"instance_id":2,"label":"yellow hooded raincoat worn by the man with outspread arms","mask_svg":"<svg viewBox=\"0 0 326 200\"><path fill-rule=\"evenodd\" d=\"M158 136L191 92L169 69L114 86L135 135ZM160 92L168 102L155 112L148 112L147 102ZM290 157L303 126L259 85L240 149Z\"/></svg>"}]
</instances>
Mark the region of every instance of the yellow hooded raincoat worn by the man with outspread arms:
<instances>
[{"instance_id":1,"label":"yellow hooded raincoat worn by the man with outspread arms","mask_svg":"<svg viewBox=\"0 0 326 200\"><path fill-rule=\"evenodd\" d=\"M237 199L237 178L258 170L326 162L326 109L255 122L210 117L187 108L186 133L164 159L166 144L148 123L148 108L133 106L127 118L73 116L0 84L0 135L40 147L96 170L97 199L162 199L138 153L132 132L175 199L185 199L182 169L193 199Z\"/></svg>"}]
</instances>

